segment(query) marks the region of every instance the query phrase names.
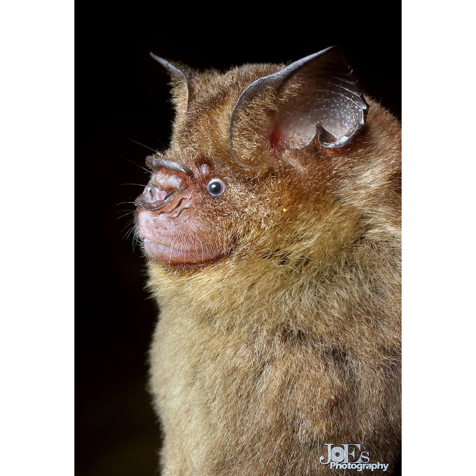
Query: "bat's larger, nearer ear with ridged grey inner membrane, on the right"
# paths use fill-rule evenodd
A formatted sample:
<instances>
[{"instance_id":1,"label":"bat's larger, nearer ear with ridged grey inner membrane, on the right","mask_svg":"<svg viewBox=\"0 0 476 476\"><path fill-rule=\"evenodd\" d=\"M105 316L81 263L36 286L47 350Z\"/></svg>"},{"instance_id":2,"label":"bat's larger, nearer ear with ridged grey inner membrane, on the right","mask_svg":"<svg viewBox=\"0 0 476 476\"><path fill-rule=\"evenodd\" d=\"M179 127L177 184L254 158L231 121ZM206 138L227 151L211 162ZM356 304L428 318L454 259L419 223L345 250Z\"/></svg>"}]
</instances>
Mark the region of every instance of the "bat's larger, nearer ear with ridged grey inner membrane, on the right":
<instances>
[{"instance_id":1,"label":"bat's larger, nearer ear with ridged grey inner membrane, on the right","mask_svg":"<svg viewBox=\"0 0 476 476\"><path fill-rule=\"evenodd\" d=\"M323 147L351 142L368 105L342 49L334 46L251 83L231 115L228 142L246 167L273 153L301 149L315 137Z\"/></svg>"}]
</instances>

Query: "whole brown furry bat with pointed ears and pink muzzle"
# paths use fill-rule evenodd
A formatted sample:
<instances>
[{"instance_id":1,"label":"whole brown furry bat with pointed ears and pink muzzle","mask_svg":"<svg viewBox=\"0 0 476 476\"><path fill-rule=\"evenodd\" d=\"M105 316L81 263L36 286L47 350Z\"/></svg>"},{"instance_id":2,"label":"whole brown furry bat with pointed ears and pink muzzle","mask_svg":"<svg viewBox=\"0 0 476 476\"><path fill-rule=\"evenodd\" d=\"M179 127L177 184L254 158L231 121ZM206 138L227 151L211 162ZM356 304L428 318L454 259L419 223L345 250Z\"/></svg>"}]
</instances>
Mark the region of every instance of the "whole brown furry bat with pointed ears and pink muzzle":
<instances>
[{"instance_id":1,"label":"whole brown furry bat with pointed ears and pink muzzle","mask_svg":"<svg viewBox=\"0 0 476 476\"><path fill-rule=\"evenodd\" d=\"M340 47L171 78L135 200L165 476L391 474L401 126Z\"/></svg>"}]
</instances>

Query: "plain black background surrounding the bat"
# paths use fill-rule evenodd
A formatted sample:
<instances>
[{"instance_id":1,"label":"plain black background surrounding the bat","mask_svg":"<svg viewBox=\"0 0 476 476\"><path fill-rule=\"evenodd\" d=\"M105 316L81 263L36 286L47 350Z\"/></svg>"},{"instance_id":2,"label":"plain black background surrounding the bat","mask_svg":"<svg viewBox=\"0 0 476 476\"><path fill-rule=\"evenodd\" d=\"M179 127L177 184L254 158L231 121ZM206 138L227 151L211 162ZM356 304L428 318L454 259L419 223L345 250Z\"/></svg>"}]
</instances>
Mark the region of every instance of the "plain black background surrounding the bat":
<instances>
[{"instance_id":1,"label":"plain black background surrounding the bat","mask_svg":"<svg viewBox=\"0 0 476 476\"><path fill-rule=\"evenodd\" d=\"M286 6L286 9L285 9ZM253 7L253 11L250 8ZM300 11L287 11L290 8ZM76 474L152 475L159 428L147 350L157 308L144 259L125 238L152 149L165 149L173 111L168 76L149 51L199 69L291 62L344 47L364 91L401 118L401 15L337 3L314 7L185 4L78 11L76 20ZM400 6L398 7L400 8ZM239 13L238 13L239 10ZM297 15L298 13L298 15ZM294 18L293 18L294 16ZM79 19L78 19L79 18ZM60 40L59 40L60 41ZM145 146L139 145L137 141ZM125 230L123 230L125 227Z\"/></svg>"}]
</instances>

